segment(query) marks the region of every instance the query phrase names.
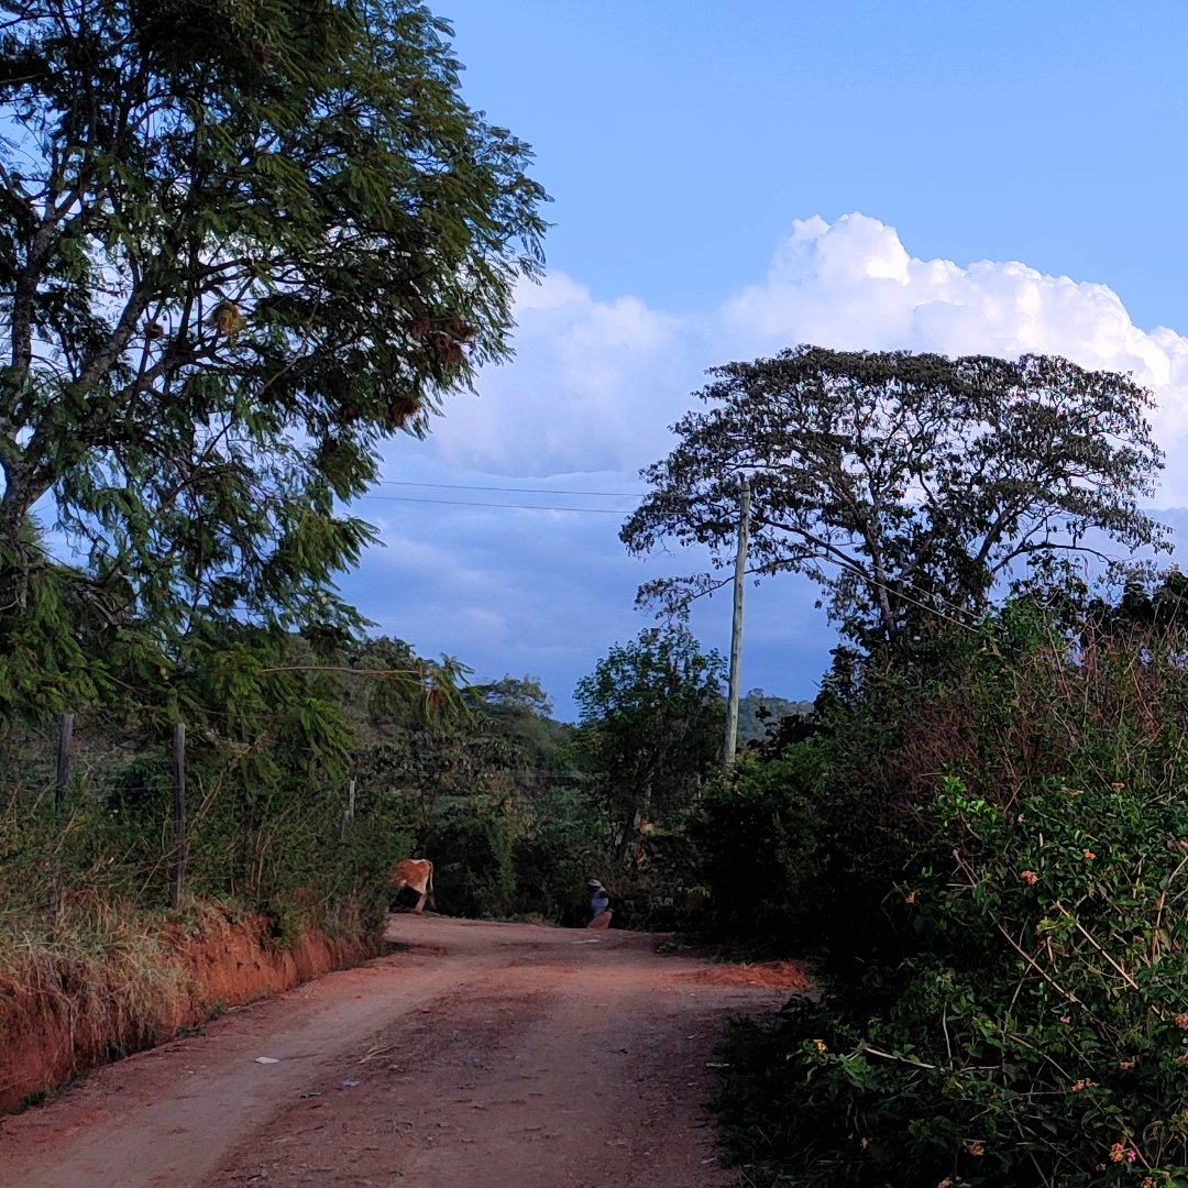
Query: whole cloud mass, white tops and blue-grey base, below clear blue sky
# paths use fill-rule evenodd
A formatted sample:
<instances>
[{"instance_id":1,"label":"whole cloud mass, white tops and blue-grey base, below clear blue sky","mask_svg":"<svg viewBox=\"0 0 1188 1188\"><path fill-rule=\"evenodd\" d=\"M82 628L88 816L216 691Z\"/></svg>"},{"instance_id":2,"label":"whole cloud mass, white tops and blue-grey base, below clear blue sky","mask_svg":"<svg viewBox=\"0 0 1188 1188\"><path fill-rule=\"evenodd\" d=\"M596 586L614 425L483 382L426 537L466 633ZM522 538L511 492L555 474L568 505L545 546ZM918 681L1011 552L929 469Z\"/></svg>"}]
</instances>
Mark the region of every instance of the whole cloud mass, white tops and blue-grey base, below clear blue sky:
<instances>
[{"instance_id":1,"label":"whole cloud mass, white tops and blue-grey base, below clear blue sky","mask_svg":"<svg viewBox=\"0 0 1188 1188\"><path fill-rule=\"evenodd\" d=\"M1135 326L1101 284L1012 260L920 259L893 227L861 214L792 223L766 276L712 309L604 299L554 273L518 290L516 314L517 358L485 368L478 397L451 398L428 441L390 443L390 482L361 505L388 549L369 552L345 588L380 630L425 655L456 655L480 680L541 676L567 718L577 678L651 621L632 609L636 586L700 567L681 550L628 558L618 529L632 499L605 493L640 489L639 468L671 448L666 426L697 404L714 365L810 342L1041 352L1132 372L1156 393L1151 419L1168 454L1156 504L1188 506L1188 339ZM506 506L525 503L604 511ZM814 596L794 577L748 592L746 687L811 695L834 642ZM693 625L725 649L728 604L700 604Z\"/></svg>"}]
</instances>

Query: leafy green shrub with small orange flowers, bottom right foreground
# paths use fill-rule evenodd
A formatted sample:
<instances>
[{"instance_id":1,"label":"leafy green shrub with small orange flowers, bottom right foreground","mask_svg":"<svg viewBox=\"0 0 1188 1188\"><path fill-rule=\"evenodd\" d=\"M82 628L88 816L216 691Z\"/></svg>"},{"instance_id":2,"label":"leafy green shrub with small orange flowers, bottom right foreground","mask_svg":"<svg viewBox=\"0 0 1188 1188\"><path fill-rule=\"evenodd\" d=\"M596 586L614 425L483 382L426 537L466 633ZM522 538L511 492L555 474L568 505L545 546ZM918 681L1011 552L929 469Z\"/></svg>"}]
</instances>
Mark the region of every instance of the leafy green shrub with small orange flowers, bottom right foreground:
<instances>
[{"instance_id":1,"label":"leafy green shrub with small orange flowers, bottom right foreground","mask_svg":"<svg viewBox=\"0 0 1188 1188\"><path fill-rule=\"evenodd\" d=\"M775 1037L783 1182L1188 1182L1188 807L1055 785L1012 817L949 779L929 817L950 861L897 889L918 953L868 972L884 1009Z\"/></svg>"}]
</instances>

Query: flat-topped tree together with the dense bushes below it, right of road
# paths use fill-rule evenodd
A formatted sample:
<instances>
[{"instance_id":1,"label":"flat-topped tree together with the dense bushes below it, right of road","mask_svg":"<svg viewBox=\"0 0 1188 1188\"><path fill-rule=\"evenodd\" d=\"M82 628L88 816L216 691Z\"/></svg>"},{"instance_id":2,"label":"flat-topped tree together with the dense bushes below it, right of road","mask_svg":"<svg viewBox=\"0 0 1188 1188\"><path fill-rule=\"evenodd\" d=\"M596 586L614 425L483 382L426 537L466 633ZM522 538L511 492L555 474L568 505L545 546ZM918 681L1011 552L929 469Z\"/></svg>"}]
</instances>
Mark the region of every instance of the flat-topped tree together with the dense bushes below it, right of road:
<instances>
[{"instance_id":1,"label":"flat-topped tree together with the dense bushes below it, right of road","mask_svg":"<svg viewBox=\"0 0 1188 1188\"><path fill-rule=\"evenodd\" d=\"M816 580L840 636L694 827L707 930L820 984L726 1042L733 1157L778 1188L1188 1183L1188 587L1138 504L1149 394L1043 358L715 374L624 539L725 568L745 480L752 571Z\"/></svg>"}]
</instances>

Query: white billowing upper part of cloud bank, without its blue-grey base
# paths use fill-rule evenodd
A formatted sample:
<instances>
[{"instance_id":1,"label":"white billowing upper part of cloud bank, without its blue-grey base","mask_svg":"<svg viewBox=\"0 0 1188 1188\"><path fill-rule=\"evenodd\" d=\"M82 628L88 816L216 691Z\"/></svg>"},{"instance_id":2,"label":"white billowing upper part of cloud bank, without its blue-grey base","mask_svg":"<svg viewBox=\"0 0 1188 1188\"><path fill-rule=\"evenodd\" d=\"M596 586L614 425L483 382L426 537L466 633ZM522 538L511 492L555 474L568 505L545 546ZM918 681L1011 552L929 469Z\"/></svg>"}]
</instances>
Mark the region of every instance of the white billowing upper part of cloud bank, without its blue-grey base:
<instances>
[{"instance_id":1,"label":"white billowing upper part of cloud bank, without its blue-grey base","mask_svg":"<svg viewBox=\"0 0 1188 1188\"><path fill-rule=\"evenodd\" d=\"M792 223L767 276L697 315L636 297L595 299L552 274L517 295L517 358L455 397L432 441L449 465L493 474L633 473L666 453L666 426L704 369L800 342L847 349L1012 356L1062 354L1132 372L1158 398L1169 454L1161 501L1188 501L1176 466L1188 449L1188 339L1135 326L1106 285L1045 276L1013 260L923 260L897 230L848 214Z\"/></svg>"}]
</instances>

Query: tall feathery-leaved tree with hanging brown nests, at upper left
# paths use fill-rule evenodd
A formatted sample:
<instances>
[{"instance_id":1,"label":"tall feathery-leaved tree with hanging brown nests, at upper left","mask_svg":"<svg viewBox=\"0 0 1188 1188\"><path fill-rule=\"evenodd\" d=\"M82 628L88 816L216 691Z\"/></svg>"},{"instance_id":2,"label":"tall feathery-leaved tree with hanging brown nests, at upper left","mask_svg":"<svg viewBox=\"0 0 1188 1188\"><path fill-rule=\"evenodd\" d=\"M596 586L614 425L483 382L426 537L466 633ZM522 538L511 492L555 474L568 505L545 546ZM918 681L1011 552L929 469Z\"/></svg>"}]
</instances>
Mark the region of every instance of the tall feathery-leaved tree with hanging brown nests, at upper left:
<instances>
[{"instance_id":1,"label":"tall feathery-leaved tree with hanging brown nests, at upper left","mask_svg":"<svg viewBox=\"0 0 1188 1188\"><path fill-rule=\"evenodd\" d=\"M333 620L379 443L507 353L526 147L405 0L0 14L0 608L36 507L113 621Z\"/></svg>"}]
</instances>

